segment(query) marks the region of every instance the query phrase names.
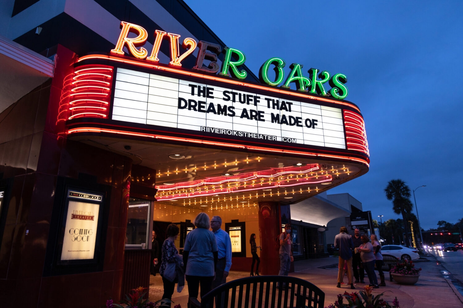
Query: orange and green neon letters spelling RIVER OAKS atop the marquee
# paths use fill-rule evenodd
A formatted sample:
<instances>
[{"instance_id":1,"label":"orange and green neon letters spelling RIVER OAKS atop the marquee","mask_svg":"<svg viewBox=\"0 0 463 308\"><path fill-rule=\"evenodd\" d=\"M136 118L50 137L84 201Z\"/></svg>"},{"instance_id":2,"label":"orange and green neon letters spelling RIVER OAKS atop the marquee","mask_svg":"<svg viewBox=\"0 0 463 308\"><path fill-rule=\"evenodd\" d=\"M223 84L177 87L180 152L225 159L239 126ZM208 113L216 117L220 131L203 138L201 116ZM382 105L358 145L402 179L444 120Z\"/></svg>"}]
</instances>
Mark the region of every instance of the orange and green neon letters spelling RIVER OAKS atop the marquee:
<instances>
[{"instance_id":1,"label":"orange and green neon letters spelling RIVER OAKS atop the marquee","mask_svg":"<svg viewBox=\"0 0 463 308\"><path fill-rule=\"evenodd\" d=\"M146 60L150 62L159 62L158 54L161 47L161 43L164 40L170 42L170 62L169 65L181 66L181 61L187 58L194 52L196 47L199 48L198 55L196 57L196 65L193 69L207 72L217 73L224 77L234 77L238 79L245 79L247 72L240 70L239 66L243 65L246 61L244 53L236 48L225 47L225 57L222 61L221 67L217 63L217 56L222 52L221 48L217 44L210 42L199 41L196 42L193 38L187 37L183 40L182 48L186 49L183 54L180 54L179 38L180 35L167 33L162 30L155 30L154 36L155 41L153 43L153 49L148 54L146 48L141 47L145 44L148 39L148 32L137 24L127 23L122 21L120 24L121 32L119 40L116 46L111 50L113 54L124 55L123 48L126 47L133 57L140 60ZM129 33L135 34L136 37L128 37ZM236 59L236 60L235 60ZM209 64L205 66L204 60L209 61ZM269 78L269 68L273 66L275 71L275 80ZM259 70L259 80L269 86L276 87L283 82L284 70L286 62L281 58L270 58L266 60ZM348 90L345 86L347 77L344 74L337 73L331 75L328 71L321 71L316 68L311 68L307 72L309 77L305 77L302 73L302 65L299 63L292 63L289 68L289 72L285 81L281 85L282 88L288 89L291 83L296 85L298 91L309 92L312 94L319 94L322 96L331 96L338 99L344 99L347 97ZM325 89L325 83L331 86L329 91Z\"/></svg>"}]
</instances>

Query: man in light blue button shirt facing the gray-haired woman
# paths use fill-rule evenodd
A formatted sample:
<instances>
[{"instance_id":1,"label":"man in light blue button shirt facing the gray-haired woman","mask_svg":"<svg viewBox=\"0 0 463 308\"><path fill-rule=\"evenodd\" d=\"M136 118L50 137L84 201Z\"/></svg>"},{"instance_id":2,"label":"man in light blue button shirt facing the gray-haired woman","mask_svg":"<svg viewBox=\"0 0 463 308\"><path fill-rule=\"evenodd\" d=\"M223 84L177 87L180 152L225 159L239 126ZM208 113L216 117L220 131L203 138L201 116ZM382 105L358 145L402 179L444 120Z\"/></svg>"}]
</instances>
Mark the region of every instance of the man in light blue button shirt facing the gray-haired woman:
<instances>
[{"instance_id":1,"label":"man in light blue button shirt facing the gray-haired woman","mask_svg":"<svg viewBox=\"0 0 463 308\"><path fill-rule=\"evenodd\" d=\"M213 216L211 219L211 229L215 235L217 242L217 250L219 253L219 260L215 267L215 279L212 282L212 288L215 289L221 284L225 284L232 266L232 241L230 236L224 230L220 229L222 226L222 218Z\"/></svg>"}]
</instances>

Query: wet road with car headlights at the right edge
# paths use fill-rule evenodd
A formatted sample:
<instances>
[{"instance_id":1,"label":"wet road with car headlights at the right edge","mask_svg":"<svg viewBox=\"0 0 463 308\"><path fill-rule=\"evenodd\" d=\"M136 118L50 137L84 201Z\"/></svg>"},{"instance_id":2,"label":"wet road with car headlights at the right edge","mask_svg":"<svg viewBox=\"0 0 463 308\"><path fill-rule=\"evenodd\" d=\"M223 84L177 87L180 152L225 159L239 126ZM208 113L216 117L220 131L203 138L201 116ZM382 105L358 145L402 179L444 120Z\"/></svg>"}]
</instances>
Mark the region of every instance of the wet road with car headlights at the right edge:
<instances>
[{"instance_id":1,"label":"wet road with car headlights at the right edge","mask_svg":"<svg viewBox=\"0 0 463 308\"><path fill-rule=\"evenodd\" d=\"M439 251L427 249L428 254L433 255L444 266L447 272L442 272L444 278L452 280L455 287L463 292L463 250ZM463 293L462 293L463 295Z\"/></svg>"}]
</instances>

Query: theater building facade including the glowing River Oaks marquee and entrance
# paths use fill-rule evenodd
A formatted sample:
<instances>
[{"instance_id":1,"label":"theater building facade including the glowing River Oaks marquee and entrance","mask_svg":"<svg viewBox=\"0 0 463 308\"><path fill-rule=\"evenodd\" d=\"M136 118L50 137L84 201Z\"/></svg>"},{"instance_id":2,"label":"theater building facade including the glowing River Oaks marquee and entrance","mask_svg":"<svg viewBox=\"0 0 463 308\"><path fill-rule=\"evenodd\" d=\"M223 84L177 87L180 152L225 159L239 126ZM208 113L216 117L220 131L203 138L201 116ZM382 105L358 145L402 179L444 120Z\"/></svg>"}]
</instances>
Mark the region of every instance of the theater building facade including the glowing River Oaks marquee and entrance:
<instances>
[{"instance_id":1,"label":"theater building facade including the glowing River Oaks marquee and entrance","mask_svg":"<svg viewBox=\"0 0 463 308\"><path fill-rule=\"evenodd\" d=\"M276 274L288 222L297 258L325 254L327 222L349 213L319 194L369 169L347 72L277 55L250 72L181 0L1 10L3 298L100 307L149 287L151 231L161 246L177 223L182 251L200 212L222 217L232 270L255 233Z\"/></svg>"}]
</instances>

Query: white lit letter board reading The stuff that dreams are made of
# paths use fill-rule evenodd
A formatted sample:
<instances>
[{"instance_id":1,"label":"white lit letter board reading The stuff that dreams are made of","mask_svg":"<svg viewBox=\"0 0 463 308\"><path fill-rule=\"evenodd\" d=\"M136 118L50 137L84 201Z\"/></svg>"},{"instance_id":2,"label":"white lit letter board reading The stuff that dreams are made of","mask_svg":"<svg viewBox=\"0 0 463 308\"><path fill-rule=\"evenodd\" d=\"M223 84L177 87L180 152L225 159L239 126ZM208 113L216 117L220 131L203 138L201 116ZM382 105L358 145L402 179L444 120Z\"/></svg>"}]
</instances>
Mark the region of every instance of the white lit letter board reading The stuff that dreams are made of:
<instances>
[{"instance_id":1,"label":"white lit letter board reading The stuff that dreams are made of","mask_svg":"<svg viewBox=\"0 0 463 308\"><path fill-rule=\"evenodd\" d=\"M122 68L112 118L345 149L341 109Z\"/></svg>"}]
</instances>

